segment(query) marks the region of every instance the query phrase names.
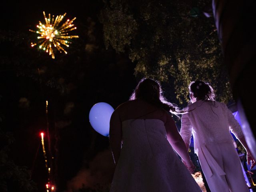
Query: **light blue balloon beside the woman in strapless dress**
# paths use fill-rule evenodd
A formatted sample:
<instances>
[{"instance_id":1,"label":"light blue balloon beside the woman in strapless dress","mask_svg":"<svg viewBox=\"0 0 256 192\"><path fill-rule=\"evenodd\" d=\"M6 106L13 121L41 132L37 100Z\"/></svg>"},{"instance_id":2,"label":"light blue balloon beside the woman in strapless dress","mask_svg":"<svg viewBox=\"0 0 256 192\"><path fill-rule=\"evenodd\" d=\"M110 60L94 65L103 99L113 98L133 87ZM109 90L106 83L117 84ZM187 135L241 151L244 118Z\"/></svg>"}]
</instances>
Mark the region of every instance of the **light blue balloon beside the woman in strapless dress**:
<instances>
[{"instance_id":1,"label":"light blue balloon beside the woman in strapless dress","mask_svg":"<svg viewBox=\"0 0 256 192\"><path fill-rule=\"evenodd\" d=\"M114 108L110 104L100 102L92 106L89 120L92 128L103 136L109 135L109 122Z\"/></svg>"}]
</instances>

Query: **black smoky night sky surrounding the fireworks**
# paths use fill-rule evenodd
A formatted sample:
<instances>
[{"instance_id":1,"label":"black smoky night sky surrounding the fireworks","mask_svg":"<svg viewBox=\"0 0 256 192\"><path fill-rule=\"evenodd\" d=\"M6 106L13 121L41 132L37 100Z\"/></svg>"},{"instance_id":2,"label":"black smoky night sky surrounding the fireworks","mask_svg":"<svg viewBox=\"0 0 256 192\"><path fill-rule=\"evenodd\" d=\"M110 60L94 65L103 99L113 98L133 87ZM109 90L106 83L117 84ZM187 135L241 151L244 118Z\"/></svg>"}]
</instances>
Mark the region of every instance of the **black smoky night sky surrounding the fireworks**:
<instances>
[{"instance_id":1,"label":"black smoky night sky surrounding the fireworks","mask_svg":"<svg viewBox=\"0 0 256 192\"><path fill-rule=\"evenodd\" d=\"M1 33L13 39L0 42L1 129L14 135L10 158L32 171L40 192L48 178L40 139L47 127L46 100L54 157L51 180L57 190L111 182L114 164L108 137L90 126L89 111L98 102L113 108L125 102L137 79L128 56L104 46L98 21L103 6L101 0L1 3ZM43 21L43 11L77 18L80 38L73 40L67 55L57 53L55 60L30 47L35 36L29 29ZM45 138L49 157L48 142Z\"/></svg>"}]
</instances>

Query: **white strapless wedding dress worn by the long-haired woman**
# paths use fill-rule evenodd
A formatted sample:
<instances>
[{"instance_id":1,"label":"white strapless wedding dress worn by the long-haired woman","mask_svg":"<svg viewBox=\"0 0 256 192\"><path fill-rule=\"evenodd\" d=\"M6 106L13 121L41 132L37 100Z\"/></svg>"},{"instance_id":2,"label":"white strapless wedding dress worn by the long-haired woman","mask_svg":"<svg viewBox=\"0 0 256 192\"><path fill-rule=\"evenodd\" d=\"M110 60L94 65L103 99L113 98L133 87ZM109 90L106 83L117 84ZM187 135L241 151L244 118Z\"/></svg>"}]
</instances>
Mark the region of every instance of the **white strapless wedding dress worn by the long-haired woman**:
<instances>
[{"instance_id":1,"label":"white strapless wedding dress worn by the long-haired woman","mask_svg":"<svg viewBox=\"0 0 256 192\"><path fill-rule=\"evenodd\" d=\"M159 119L122 122L122 150L110 192L201 192Z\"/></svg>"}]
</instances>

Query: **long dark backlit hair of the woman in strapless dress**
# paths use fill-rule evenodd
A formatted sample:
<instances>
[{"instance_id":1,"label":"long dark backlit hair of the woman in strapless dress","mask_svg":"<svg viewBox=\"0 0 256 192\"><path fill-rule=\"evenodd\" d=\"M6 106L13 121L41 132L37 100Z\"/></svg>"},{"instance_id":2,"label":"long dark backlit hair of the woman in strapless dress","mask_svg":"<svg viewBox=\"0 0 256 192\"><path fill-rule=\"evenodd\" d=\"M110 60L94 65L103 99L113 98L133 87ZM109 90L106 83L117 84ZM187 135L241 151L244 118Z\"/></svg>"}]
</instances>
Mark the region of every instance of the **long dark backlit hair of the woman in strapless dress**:
<instances>
[{"instance_id":1,"label":"long dark backlit hair of the woman in strapless dress","mask_svg":"<svg viewBox=\"0 0 256 192\"><path fill-rule=\"evenodd\" d=\"M179 108L168 102L163 94L162 88L158 81L150 78L142 78L136 86L129 100L142 99L146 102L165 109L172 114L179 114Z\"/></svg>"}]
</instances>

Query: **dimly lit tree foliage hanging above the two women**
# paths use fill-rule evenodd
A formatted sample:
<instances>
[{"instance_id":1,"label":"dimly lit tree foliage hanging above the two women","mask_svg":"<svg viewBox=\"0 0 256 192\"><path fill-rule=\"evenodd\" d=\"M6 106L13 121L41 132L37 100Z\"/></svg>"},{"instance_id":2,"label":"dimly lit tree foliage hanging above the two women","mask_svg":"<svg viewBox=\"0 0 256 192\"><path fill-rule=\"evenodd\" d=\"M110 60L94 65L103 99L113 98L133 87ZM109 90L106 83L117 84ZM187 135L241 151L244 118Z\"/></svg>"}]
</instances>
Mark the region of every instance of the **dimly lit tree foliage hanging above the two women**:
<instances>
[{"instance_id":1,"label":"dimly lit tree foliage hanging above the two women","mask_svg":"<svg viewBox=\"0 0 256 192\"><path fill-rule=\"evenodd\" d=\"M184 3L185 2L185 3ZM100 14L106 48L127 52L135 75L160 80L168 98L187 101L188 84L210 82L220 101L230 85L212 18L199 14L201 1L109 0ZM171 94L172 93L172 94Z\"/></svg>"}]
</instances>

